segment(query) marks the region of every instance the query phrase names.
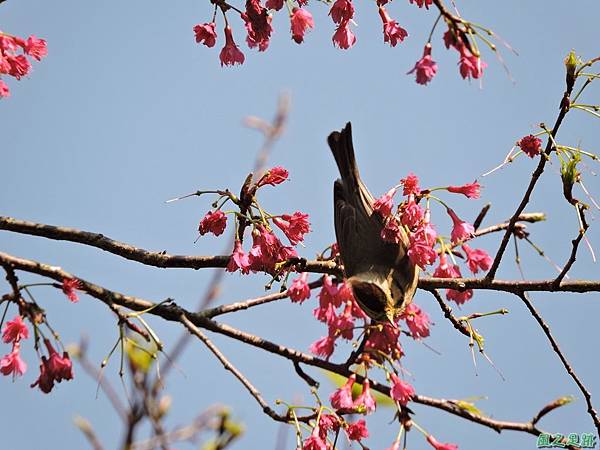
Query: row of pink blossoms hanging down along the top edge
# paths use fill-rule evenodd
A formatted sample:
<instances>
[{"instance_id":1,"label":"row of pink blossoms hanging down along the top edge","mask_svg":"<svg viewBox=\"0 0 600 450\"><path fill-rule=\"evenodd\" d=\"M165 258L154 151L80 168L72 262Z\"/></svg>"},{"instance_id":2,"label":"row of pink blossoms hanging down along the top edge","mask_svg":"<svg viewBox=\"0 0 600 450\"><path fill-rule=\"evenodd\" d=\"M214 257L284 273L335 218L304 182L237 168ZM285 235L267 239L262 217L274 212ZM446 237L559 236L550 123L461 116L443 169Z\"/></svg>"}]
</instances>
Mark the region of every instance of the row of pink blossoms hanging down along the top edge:
<instances>
[{"instance_id":1,"label":"row of pink blossoms hanging down along the top edge","mask_svg":"<svg viewBox=\"0 0 600 450\"><path fill-rule=\"evenodd\" d=\"M390 46L395 47L408 37L408 32L393 19L386 5L391 0L374 0L375 6L379 12L382 22L383 41ZM419 8L429 9L433 4L432 0L409 0ZM231 11L239 15L246 29L246 43L251 49L258 49L259 52L267 50L273 27L271 25L273 15L283 10L284 4L290 20L290 35L294 42L301 44L304 42L308 30L314 28L314 19L312 14L306 9L308 0L246 0L245 8L238 9L224 0L212 0L215 5L212 20L203 24L194 26L196 42L204 44L207 47L214 47L218 40L216 13L220 9L224 20L223 35L225 38L224 46L219 53L219 59L222 66L233 66L243 64L245 56L236 44L233 37L233 30L228 20ZM330 2L329 16L335 25L335 32L332 36L332 42L335 47L347 50L356 44L356 35L352 30L352 25L356 25L354 17L354 4L352 0L335 0ZM446 48L453 48L459 53L459 72L463 78L481 78L486 63L480 58L480 52L477 48L475 37L480 36L480 32L489 35L489 30L472 25L470 22L455 17L450 13L443 14L444 22L448 29L444 34L444 44ZM436 20L434 29L438 24ZM431 35L434 29L432 29ZM489 45L493 51L495 46L489 43L489 40L482 39L482 42ZM409 74L415 74L416 82L419 84L429 83L437 73L437 64L431 57L431 36L425 45L423 57L416 62Z\"/></svg>"}]
</instances>

